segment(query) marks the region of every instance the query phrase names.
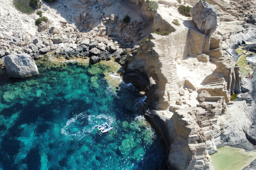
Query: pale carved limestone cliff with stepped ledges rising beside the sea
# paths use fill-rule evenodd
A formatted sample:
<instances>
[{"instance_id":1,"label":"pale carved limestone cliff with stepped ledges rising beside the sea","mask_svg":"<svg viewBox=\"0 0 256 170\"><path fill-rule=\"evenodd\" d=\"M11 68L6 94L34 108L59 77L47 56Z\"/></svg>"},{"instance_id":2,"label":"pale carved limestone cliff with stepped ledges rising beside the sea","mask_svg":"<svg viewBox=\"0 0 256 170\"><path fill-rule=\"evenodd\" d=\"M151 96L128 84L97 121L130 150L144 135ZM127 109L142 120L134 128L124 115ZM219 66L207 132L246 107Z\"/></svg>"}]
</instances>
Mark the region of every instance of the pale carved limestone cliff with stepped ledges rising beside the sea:
<instances>
[{"instance_id":1,"label":"pale carved limestone cliff with stepped ledges rising beside the sea","mask_svg":"<svg viewBox=\"0 0 256 170\"><path fill-rule=\"evenodd\" d=\"M226 144L254 148L244 133L252 111L230 102L241 93L239 67L221 44L193 28L151 33L126 61L124 80L147 92L145 115L165 140L171 169L213 169L209 154Z\"/></svg>"}]
</instances>

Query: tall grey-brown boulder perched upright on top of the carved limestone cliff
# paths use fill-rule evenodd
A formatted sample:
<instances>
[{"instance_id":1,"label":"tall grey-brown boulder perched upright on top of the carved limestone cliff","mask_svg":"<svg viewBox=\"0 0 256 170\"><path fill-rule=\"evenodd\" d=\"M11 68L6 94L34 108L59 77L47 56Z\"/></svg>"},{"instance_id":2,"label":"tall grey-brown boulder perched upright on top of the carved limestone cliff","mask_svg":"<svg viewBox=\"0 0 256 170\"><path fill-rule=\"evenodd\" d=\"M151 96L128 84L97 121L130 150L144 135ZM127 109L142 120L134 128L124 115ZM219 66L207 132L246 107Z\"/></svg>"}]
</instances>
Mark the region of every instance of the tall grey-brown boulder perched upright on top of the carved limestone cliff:
<instances>
[{"instance_id":1,"label":"tall grey-brown boulder perched upright on top of the carved limestone cliff","mask_svg":"<svg viewBox=\"0 0 256 170\"><path fill-rule=\"evenodd\" d=\"M189 12L197 28L206 36L210 36L218 27L217 13L212 4L200 0Z\"/></svg>"}]
</instances>

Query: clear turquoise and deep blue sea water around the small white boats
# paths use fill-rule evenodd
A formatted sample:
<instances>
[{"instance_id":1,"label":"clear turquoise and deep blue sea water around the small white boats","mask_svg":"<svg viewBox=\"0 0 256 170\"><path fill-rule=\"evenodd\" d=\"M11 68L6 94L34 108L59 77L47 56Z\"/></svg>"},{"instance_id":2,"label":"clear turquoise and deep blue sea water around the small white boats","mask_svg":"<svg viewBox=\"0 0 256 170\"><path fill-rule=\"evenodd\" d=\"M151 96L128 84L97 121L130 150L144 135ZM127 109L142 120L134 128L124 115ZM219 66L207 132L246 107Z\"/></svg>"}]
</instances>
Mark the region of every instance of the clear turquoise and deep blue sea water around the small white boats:
<instances>
[{"instance_id":1,"label":"clear turquoise and deep blue sea water around the small white boats","mask_svg":"<svg viewBox=\"0 0 256 170\"><path fill-rule=\"evenodd\" d=\"M110 88L108 65L38 63L39 75L0 82L0 169L165 169L143 96ZM3 72L1 72L3 78ZM114 126L101 133L97 126Z\"/></svg>"}]
</instances>

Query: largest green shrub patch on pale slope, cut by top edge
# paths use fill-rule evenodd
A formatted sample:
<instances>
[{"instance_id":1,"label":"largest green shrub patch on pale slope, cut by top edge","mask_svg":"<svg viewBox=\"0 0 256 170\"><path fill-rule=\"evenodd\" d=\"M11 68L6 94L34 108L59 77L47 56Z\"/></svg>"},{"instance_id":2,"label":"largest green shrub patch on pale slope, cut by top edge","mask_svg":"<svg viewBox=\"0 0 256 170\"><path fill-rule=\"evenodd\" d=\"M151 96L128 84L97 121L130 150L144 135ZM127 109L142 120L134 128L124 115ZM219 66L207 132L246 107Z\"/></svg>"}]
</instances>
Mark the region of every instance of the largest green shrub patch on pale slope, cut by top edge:
<instances>
[{"instance_id":1,"label":"largest green shrub patch on pale slope, cut by top edge","mask_svg":"<svg viewBox=\"0 0 256 170\"><path fill-rule=\"evenodd\" d=\"M13 5L22 13L31 14L41 7L39 0L14 0Z\"/></svg>"}]
</instances>

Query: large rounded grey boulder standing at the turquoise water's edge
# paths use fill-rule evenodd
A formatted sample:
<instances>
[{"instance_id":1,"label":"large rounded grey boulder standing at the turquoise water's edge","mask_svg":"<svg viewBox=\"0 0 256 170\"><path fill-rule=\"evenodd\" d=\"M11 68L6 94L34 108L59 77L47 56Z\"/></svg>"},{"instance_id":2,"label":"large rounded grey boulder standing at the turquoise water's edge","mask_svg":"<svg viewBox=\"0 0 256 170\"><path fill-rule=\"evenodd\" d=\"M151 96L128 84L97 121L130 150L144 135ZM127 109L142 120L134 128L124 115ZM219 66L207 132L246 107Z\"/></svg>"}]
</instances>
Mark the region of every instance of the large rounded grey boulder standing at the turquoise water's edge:
<instances>
[{"instance_id":1,"label":"large rounded grey boulder standing at the turquoise water's edge","mask_svg":"<svg viewBox=\"0 0 256 170\"><path fill-rule=\"evenodd\" d=\"M10 77L25 78L38 74L35 61L28 54L6 56L4 57L4 64Z\"/></svg>"}]
</instances>

